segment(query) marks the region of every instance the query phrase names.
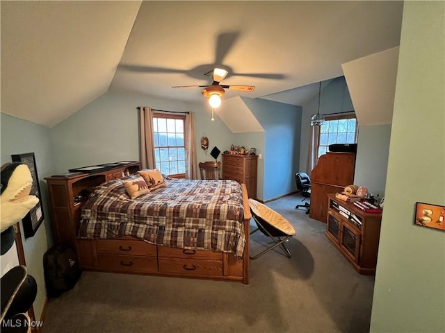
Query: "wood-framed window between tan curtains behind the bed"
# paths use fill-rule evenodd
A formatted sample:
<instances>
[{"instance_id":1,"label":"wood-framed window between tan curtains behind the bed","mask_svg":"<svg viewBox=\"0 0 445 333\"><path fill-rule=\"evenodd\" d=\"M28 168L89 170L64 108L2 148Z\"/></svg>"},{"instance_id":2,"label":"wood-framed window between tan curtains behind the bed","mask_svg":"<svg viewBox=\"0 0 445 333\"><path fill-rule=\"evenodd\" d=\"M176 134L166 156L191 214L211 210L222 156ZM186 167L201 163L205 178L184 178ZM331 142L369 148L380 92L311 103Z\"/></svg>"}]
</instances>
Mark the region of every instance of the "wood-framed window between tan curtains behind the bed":
<instances>
[{"instance_id":1,"label":"wood-framed window between tan curtains behind the bed","mask_svg":"<svg viewBox=\"0 0 445 333\"><path fill-rule=\"evenodd\" d=\"M156 168L168 176L185 176L186 147L183 115L154 114L154 154Z\"/></svg>"}]
</instances>

